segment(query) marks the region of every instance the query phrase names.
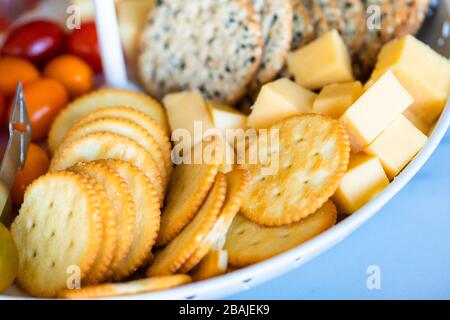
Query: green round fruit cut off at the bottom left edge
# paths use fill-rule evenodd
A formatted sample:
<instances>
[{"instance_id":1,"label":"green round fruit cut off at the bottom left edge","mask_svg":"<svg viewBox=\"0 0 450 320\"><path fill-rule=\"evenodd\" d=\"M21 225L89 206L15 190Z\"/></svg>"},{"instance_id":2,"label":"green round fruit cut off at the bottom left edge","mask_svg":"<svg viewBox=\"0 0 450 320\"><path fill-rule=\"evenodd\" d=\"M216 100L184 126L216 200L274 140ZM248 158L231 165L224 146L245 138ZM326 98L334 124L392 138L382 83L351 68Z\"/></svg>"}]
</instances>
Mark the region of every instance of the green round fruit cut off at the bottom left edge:
<instances>
[{"instance_id":1,"label":"green round fruit cut off at the bottom left edge","mask_svg":"<svg viewBox=\"0 0 450 320\"><path fill-rule=\"evenodd\" d=\"M19 256L8 229L0 223L0 293L6 291L17 275Z\"/></svg>"}]
</instances>

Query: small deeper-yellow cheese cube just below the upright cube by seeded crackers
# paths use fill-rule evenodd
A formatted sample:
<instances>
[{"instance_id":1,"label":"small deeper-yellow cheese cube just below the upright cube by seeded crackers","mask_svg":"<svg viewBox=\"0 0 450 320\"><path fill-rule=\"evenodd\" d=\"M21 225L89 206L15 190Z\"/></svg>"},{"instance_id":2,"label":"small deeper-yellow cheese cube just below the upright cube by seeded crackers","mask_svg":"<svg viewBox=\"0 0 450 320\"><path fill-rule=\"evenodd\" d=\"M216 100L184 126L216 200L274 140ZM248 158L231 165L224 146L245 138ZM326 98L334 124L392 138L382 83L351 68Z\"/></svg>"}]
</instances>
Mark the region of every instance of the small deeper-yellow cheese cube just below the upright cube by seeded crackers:
<instances>
[{"instance_id":1,"label":"small deeper-yellow cheese cube just below the upright cube by seeded crackers","mask_svg":"<svg viewBox=\"0 0 450 320\"><path fill-rule=\"evenodd\" d=\"M330 84L322 88L314 101L315 113L340 118L345 111L362 95L359 81Z\"/></svg>"}]
</instances>

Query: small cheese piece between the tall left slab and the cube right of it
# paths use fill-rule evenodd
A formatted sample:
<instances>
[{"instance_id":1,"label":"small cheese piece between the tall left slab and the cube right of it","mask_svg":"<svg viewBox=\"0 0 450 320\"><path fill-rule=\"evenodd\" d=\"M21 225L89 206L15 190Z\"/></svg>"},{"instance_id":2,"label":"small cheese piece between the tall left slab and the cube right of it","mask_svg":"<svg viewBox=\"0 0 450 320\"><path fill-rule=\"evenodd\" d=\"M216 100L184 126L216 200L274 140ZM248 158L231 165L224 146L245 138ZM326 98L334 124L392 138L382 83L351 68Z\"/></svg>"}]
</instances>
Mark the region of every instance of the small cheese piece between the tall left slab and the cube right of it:
<instances>
[{"instance_id":1,"label":"small cheese piece between the tall left slab and the cube right of it","mask_svg":"<svg viewBox=\"0 0 450 320\"><path fill-rule=\"evenodd\" d=\"M217 129L244 129L247 116L238 110L216 101L207 101L207 107L214 127Z\"/></svg>"}]
</instances>

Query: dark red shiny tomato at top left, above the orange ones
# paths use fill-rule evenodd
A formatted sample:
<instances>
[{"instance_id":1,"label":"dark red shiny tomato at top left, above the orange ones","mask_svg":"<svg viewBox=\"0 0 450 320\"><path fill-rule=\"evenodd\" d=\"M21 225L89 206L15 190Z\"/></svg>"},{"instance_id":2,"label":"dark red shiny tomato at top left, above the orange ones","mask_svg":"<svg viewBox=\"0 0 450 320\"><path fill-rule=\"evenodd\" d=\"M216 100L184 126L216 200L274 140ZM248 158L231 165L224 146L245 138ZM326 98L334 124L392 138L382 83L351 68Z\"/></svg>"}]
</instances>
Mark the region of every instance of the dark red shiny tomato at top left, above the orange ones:
<instances>
[{"instance_id":1,"label":"dark red shiny tomato at top left, above the orange ones","mask_svg":"<svg viewBox=\"0 0 450 320\"><path fill-rule=\"evenodd\" d=\"M41 65L61 52L64 40L64 30L58 24L35 20L11 30L1 54L26 58Z\"/></svg>"}]
</instances>

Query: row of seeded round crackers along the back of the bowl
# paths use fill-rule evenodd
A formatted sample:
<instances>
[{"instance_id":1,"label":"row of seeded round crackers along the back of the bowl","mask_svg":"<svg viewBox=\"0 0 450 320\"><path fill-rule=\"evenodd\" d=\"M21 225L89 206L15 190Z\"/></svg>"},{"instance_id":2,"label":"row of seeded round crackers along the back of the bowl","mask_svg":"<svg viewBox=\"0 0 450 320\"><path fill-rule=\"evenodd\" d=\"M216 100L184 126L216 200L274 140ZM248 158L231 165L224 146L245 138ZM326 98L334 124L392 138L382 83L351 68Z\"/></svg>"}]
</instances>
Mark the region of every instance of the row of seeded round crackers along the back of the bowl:
<instances>
[{"instance_id":1,"label":"row of seeded round crackers along the back of the bowl","mask_svg":"<svg viewBox=\"0 0 450 320\"><path fill-rule=\"evenodd\" d=\"M285 73L290 50L335 29L363 77L384 43L419 30L428 6L429 0L161 0L142 30L138 74L158 99L198 89L208 99L245 104Z\"/></svg>"}]
</instances>

